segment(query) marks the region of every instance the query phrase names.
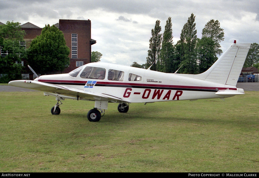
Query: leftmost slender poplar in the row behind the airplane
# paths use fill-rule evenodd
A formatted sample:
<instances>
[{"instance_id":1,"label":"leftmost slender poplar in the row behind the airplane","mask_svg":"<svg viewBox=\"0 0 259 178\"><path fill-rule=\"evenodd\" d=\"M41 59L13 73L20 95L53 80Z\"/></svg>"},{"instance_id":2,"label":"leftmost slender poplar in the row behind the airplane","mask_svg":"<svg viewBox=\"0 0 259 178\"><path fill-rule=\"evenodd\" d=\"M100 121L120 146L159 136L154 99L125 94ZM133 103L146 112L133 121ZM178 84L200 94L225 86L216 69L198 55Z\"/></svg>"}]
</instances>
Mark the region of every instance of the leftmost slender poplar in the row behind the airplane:
<instances>
[{"instance_id":1,"label":"leftmost slender poplar in the row behind the airplane","mask_svg":"<svg viewBox=\"0 0 259 178\"><path fill-rule=\"evenodd\" d=\"M151 30L152 37L149 40L149 50L148 50L148 57L147 57L147 63L146 66L150 66L151 70L158 70L156 66L156 63L160 63L160 50L161 50L161 42L162 42L162 34L161 32L161 26L160 21L156 21L155 28Z\"/></svg>"}]
</instances>

